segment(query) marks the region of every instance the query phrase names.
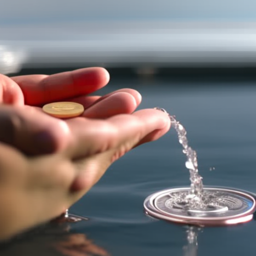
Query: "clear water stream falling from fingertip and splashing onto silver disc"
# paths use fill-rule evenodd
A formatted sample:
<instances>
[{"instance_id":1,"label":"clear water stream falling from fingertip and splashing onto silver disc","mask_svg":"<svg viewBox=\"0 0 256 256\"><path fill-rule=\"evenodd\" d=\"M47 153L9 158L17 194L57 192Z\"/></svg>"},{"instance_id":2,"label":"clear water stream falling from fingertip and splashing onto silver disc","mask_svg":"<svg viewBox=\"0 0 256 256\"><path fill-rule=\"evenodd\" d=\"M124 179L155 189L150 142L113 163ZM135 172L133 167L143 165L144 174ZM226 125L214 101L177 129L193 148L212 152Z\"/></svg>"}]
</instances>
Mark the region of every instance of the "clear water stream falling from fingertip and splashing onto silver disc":
<instances>
[{"instance_id":1,"label":"clear water stream falling from fingertip and splashing onto silver disc","mask_svg":"<svg viewBox=\"0 0 256 256\"><path fill-rule=\"evenodd\" d=\"M165 113L163 108L156 107ZM168 114L168 113L167 113ZM169 115L169 114L168 114ZM182 145L182 152L186 155L185 166L190 173L190 191L175 192L170 194L170 198L166 201L166 206L170 208L186 209L188 211L200 212L212 211L222 212L229 207L239 207L239 202L231 199L226 194L219 192L209 192L203 190L202 177L198 173L197 156L195 150L188 146L186 130L175 116L169 115L171 125L176 130L178 141ZM198 212L197 212L198 213Z\"/></svg>"}]
</instances>

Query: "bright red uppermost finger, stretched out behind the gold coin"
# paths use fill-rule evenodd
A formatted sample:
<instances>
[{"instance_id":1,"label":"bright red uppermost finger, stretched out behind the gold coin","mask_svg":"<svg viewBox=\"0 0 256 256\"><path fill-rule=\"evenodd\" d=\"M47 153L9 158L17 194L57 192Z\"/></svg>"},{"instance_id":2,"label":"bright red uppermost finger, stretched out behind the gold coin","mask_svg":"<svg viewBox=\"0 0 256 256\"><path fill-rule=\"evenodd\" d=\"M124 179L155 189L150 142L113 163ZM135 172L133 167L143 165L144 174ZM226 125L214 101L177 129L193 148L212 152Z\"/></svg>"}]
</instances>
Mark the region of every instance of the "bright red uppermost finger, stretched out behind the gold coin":
<instances>
[{"instance_id":1,"label":"bright red uppermost finger, stretched out behind the gold coin","mask_svg":"<svg viewBox=\"0 0 256 256\"><path fill-rule=\"evenodd\" d=\"M88 67L52 75L11 77L21 88L25 104L39 105L91 93L109 81L108 72L101 67Z\"/></svg>"}]
</instances>

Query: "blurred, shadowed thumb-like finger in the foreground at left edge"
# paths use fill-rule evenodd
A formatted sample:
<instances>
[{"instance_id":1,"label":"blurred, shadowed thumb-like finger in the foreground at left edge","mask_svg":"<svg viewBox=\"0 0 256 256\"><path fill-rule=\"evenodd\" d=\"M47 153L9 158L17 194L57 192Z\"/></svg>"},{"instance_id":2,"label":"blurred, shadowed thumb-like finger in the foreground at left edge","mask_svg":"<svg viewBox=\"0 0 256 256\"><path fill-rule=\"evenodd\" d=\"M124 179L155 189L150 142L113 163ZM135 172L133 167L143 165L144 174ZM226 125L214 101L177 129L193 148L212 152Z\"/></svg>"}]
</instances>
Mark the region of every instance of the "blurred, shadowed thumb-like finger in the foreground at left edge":
<instances>
[{"instance_id":1,"label":"blurred, shadowed thumb-like finger in the foreground at left edge","mask_svg":"<svg viewBox=\"0 0 256 256\"><path fill-rule=\"evenodd\" d=\"M0 141L28 155L45 154L65 147L66 123L30 106L0 107Z\"/></svg>"}]
</instances>

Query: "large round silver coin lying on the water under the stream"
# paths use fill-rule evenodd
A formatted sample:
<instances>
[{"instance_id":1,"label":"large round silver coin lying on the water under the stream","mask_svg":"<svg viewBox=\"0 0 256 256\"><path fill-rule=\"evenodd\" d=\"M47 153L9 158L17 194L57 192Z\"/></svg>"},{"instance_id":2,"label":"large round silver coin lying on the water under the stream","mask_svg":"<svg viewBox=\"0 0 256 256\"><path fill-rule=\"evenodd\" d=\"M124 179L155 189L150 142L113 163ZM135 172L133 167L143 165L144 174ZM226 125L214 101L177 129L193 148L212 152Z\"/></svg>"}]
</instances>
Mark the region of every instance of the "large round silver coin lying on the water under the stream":
<instances>
[{"instance_id":1,"label":"large round silver coin lying on the water under the stream","mask_svg":"<svg viewBox=\"0 0 256 256\"><path fill-rule=\"evenodd\" d=\"M194 195L192 195L194 196ZM189 187L170 188L148 196L146 212L154 217L195 225L236 224L252 219L254 197L241 190L205 187L200 207L191 208Z\"/></svg>"}]
</instances>

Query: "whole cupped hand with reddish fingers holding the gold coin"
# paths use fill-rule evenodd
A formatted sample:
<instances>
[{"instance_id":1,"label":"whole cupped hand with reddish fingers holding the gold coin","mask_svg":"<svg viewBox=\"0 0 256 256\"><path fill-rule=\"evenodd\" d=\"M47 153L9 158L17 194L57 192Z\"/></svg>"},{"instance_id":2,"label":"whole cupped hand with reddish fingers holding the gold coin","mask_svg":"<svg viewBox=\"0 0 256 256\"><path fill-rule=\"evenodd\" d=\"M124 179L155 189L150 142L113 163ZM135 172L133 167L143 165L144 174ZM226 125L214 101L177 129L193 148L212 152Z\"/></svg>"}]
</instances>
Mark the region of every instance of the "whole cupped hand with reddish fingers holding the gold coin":
<instances>
[{"instance_id":1,"label":"whole cupped hand with reddish fingers holding the gold coin","mask_svg":"<svg viewBox=\"0 0 256 256\"><path fill-rule=\"evenodd\" d=\"M100 67L53 75L0 75L0 239L61 214L109 165L170 127L167 114L134 111L140 94L129 88L104 96ZM40 106L53 101L84 106L79 117L58 119Z\"/></svg>"}]
</instances>

